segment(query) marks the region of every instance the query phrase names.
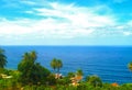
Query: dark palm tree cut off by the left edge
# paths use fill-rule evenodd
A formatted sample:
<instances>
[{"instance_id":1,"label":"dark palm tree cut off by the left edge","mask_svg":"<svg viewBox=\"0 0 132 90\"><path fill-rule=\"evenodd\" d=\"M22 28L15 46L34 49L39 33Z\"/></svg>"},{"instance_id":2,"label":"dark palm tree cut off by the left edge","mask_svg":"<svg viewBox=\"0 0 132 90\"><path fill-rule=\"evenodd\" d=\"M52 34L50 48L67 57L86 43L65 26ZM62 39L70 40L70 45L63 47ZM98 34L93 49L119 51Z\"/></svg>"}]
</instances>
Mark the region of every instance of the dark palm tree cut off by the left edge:
<instances>
[{"instance_id":1,"label":"dark palm tree cut off by the left edge","mask_svg":"<svg viewBox=\"0 0 132 90\"><path fill-rule=\"evenodd\" d=\"M0 48L0 68L4 68L7 65L7 57L4 55L4 50Z\"/></svg>"}]
</instances>

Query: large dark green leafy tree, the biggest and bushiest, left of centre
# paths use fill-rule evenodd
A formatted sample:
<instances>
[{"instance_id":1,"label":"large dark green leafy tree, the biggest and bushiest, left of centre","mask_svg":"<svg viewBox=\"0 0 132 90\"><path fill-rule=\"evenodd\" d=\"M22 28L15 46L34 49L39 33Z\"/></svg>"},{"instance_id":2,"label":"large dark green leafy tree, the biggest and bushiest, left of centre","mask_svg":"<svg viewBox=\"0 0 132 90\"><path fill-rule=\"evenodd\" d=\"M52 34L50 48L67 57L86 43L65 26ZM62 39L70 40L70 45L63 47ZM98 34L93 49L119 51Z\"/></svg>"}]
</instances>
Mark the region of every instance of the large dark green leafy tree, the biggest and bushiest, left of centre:
<instances>
[{"instance_id":1,"label":"large dark green leafy tree, the biggest and bushiest, left of centre","mask_svg":"<svg viewBox=\"0 0 132 90\"><path fill-rule=\"evenodd\" d=\"M20 81L24 85L37 85L46 82L50 71L36 63L36 53L25 53L23 59L18 65L21 72Z\"/></svg>"}]
</instances>

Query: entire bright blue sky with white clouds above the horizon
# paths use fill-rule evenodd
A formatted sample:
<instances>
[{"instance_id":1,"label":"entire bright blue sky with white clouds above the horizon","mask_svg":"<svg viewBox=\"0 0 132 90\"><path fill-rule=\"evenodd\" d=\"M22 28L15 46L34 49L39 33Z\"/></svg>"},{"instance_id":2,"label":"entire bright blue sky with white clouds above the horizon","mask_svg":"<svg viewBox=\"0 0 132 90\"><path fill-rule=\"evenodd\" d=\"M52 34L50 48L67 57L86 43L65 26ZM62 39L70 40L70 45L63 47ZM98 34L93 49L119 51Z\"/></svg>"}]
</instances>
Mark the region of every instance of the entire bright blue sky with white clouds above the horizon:
<instances>
[{"instance_id":1,"label":"entire bright blue sky with white clouds above the horizon","mask_svg":"<svg viewBox=\"0 0 132 90\"><path fill-rule=\"evenodd\" d=\"M0 0L0 45L130 45L131 0Z\"/></svg>"}]
</instances>

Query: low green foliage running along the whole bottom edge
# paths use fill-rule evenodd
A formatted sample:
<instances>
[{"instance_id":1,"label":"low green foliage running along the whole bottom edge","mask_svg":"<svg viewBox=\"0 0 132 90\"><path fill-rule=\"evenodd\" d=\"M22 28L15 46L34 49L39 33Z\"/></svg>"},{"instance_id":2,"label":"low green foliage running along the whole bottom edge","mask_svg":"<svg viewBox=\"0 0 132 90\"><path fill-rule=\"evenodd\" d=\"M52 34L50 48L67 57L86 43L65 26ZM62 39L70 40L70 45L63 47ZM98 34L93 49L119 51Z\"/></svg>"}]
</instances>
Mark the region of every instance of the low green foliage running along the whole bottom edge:
<instances>
[{"instance_id":1,"label":"low green foliage running along the whole bottom edge","mask_svg":"<svg viewBox=\"0 0 132 90\"><path fill-rule=\"evenodd\" d=\"M16 74L14 71L14 74ZM53 76L53 75L50 75ZM0 90L131 90L132 83L125 83L119 87L113 87L110 83L102 83L102 87L94 87L87 81L80 82L79 86L72 86L65 83L65 79L57 79L59 83L56 85L25 85L20 86L15 81L15 78L12 79L1 79L0 80Z\"/></svg>"}]
</instances>

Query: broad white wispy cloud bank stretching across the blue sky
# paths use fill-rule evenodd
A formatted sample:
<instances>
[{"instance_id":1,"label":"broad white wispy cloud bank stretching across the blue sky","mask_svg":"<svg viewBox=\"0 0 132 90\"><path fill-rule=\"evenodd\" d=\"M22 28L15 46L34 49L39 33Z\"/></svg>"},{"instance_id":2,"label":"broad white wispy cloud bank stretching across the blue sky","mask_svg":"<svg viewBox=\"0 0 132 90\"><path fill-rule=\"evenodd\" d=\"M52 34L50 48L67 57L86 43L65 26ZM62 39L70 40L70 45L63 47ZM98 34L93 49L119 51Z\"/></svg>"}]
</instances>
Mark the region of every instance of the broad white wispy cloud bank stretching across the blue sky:
<instances>
[{"instance_id":1,"label":"broad white wispy cloud bank stretching across the blue sky","mask_svg":"<svg viewBox=\"0 0 132 90\"><path fill-rule=\"evenodd\" d=\"M29 4L35 4L29 2ZM132 35L125 26L117 25L116 18L107 12L99 14L105 5L95 8L76 7L72 4L48 3L51 8L34 8L25 13L43 16L42 20L0 19L0 40L12 38L76 38L108 35ZM127 32L124 32L127 31Z\"/></svg>"}]
</instances>

